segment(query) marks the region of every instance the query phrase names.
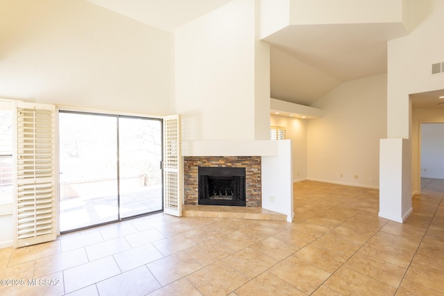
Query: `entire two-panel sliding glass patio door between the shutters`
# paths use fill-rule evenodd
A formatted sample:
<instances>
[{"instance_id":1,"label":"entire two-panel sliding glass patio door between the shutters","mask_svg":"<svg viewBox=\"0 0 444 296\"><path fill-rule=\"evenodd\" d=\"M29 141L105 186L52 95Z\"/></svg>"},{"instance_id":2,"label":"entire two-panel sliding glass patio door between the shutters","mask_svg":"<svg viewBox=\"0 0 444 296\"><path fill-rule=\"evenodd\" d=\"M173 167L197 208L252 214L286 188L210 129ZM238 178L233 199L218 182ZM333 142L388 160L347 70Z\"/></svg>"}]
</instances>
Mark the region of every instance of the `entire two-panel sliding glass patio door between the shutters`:
<instances>
[{"instance_id":1,"label":"entire two-panel sliding glass patio door between the shutters","mask_svg":"<svg viewBox=\"0 0 444 296\"><path fill-rule=\"evenodd\" d=\"M162 211L162 120L59 112L60 231Z\"/></svg>"}]
</instances>

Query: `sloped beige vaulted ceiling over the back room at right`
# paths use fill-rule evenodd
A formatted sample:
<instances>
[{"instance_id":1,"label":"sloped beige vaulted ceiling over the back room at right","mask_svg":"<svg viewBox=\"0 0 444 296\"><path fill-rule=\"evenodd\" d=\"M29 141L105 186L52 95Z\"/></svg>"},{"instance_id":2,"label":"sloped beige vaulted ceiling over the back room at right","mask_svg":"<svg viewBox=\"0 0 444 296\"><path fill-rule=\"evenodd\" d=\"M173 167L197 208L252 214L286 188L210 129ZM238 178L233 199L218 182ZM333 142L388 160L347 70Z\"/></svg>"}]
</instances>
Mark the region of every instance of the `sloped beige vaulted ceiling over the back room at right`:
<instances>
[{"instance_id":1,"label":"sloped beige vaulted ceiling over the back room at right","mask_svg":"<svg viewBox=\"0 0 444 296\"><path fill-rule=\"evenodd\" d=\"M311 105L342 82L386 73L387 40L400 24L298 25L265 38L271 49L271 96Z\"/></svg>"}]
</instances>

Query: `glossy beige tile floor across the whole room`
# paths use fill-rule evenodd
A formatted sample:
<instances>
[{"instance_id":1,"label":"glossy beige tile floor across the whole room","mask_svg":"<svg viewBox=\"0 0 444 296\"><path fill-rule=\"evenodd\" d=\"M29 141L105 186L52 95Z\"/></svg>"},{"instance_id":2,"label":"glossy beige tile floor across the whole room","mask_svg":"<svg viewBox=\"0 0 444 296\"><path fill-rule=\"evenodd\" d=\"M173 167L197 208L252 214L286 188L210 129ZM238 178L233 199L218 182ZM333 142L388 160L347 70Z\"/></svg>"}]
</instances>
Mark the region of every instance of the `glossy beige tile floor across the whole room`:
<instances>
[{"instance_id":1,"label":"glossy beige tile floor across the whole room","mask_svg":"<svg viewBox=\"0 0 444 296\"><path fill-rule=\"evenodd\" d=\"M293 223L156 214L2 249L0 295L444 295L444 181L423 181L404 224L306 181Z\"/></svg>"}]
</instances>

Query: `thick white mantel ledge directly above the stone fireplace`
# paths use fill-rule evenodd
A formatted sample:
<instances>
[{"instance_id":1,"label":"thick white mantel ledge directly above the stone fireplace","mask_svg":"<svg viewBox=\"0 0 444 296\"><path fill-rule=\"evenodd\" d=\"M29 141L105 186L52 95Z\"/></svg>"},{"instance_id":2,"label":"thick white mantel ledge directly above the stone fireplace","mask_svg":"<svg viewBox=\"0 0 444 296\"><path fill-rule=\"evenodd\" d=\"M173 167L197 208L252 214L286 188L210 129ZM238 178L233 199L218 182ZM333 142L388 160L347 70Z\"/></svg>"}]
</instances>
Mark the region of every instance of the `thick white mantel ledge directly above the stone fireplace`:
<instances>
[{"instance_id":1,"label":"thick white mantel ledge directly above the stone fireplace","mask_svg":"<svg viewBox=\"0 0 444 296\"><path fill-rule=\"evenodd\" d=\"M276 156L278 141L182 141L182 156Z\"/></svg>"}]
</instances>

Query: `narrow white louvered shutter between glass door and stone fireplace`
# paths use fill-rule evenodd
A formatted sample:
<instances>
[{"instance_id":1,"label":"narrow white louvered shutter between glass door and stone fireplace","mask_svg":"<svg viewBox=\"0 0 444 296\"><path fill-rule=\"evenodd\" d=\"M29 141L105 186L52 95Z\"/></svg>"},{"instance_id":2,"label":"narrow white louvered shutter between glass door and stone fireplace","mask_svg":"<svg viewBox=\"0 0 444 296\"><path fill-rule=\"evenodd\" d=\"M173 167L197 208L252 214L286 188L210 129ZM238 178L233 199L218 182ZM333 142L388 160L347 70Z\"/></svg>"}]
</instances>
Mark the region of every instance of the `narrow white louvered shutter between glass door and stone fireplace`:
<instances>
[{"instance_id":1,"label":"narrow white louvered shutter between glass door and stone fireplace","mask_svg":"<svg viewBox=\"0 0 444 296\"><path fill-rule=\"evenodd\" d=\"M164 213L182 216L180 116L164 118Z\"/></svg>"}]
</instances>

